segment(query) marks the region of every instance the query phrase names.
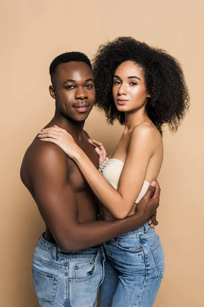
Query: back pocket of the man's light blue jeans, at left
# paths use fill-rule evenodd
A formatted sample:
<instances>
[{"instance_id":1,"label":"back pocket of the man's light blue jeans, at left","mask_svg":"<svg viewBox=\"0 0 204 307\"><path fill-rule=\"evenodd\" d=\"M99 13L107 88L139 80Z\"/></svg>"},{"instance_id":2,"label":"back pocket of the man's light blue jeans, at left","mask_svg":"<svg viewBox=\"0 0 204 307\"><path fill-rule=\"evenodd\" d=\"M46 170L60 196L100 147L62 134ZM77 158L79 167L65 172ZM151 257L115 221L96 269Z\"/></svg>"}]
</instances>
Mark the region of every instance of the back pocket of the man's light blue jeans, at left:
<instances>
[{"instance_id":1,"label":"back pocket of the man's light blue jeans, at left","mask_svg":"<svg viewBox=\"0 0 204 307\"><path fill-rule=\"evenodd\" d=\"M58 277L36 270L32 266L34 288L42 307L53 307L57 292Z\"/></svg>"}]
</instances>

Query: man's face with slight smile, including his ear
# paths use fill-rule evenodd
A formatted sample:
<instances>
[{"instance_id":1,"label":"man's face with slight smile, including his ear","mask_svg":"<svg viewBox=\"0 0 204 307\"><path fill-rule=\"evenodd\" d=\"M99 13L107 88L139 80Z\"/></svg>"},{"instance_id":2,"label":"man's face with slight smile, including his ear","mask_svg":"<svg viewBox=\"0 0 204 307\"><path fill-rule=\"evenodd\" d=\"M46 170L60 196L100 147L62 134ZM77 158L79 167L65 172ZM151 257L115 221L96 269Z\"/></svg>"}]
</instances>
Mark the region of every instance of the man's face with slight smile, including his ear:
<instances>
[{"instance_id":1,"label":"man's face with slight smile, including his ear","mask_svg":"<svg viewBox=\"0 0 204 307\"><path fill-rule=\"evenodd\" d=\"M57 67L50 95L58 113L75 121L87 119L95 100L93 72L84 62L61 63Z\"/></svg>"}]
</instances>

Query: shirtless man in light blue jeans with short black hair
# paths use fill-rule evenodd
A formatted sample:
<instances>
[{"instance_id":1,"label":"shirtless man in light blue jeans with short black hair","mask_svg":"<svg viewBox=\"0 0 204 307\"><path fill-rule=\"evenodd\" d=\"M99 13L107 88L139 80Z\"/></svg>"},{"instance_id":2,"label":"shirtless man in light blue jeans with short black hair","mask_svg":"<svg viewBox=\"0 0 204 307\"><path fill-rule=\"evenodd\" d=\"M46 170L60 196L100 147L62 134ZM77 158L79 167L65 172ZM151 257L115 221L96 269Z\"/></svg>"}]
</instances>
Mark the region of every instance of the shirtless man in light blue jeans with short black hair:
<instances>
[{"instance_id":1,"label":"shirtless man in light blue jeans with short black hair","mask_svg":"<svg viewBox=\"0 0 204 307\"><path fill-rule=\"evenodd\" d=\"M98 168L98 155L83 130L95 99L90 60L79 52L62 54L50 64L50 76L56 111L45 127L66 129ZM97 199L77 164L60 147L37 137L25 152L20 176L46 224L32 264L40 306L96 306L105 261L100 244L142 226L148 218L157 225L159 186L150 200L150 185L134 215L97 221Z\"/></svg>"}]
</instances>

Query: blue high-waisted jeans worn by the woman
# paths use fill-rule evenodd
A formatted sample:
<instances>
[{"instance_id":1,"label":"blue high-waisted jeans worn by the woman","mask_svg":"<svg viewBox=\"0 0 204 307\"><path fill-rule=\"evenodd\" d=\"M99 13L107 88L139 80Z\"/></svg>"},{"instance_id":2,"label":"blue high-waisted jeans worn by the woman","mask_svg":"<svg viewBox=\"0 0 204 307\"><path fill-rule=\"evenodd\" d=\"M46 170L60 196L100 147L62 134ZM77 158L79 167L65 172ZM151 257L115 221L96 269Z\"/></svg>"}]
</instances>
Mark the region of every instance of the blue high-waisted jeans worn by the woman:
<instances>
[{"instance_id":1,"label":"blue high-waisted jeans worn by the woman","mask_svg":"<svg viewBox=\"0 0 204 307\"><path fill-rule=\"evenodd\" d=\"M164 274L164 253L155 229L146 222L104 247L100 307L151 307Z\"/></svg>"}]
</instances>

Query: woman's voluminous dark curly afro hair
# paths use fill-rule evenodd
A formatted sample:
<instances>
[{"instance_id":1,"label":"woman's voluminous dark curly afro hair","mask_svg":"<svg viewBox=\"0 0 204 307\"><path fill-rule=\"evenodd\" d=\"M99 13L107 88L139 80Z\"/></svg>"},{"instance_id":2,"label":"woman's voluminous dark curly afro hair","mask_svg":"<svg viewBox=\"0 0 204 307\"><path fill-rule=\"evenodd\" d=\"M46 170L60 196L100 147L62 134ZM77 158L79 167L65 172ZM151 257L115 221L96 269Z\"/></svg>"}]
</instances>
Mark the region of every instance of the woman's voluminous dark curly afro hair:
<instances>
[{"instance_id":1,"label":"woman's voluminous dark curly afro hair","mask_svg":"<svg viewBox=\"0 0 204 307\"><path fill-rule=\"evenodd\" d=\"M142 69L147 93L146 111L149 119L162 134L168 124L175 132L189 108L189 93L179 61L165 50L149 47L132 37L118 37L100 45L92 60L96 88L95 105L105 111L109 123L124 124L124 112L115 106L112 86L118 66L131 60Z\"/></svg>"}]
</instances>

